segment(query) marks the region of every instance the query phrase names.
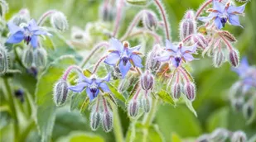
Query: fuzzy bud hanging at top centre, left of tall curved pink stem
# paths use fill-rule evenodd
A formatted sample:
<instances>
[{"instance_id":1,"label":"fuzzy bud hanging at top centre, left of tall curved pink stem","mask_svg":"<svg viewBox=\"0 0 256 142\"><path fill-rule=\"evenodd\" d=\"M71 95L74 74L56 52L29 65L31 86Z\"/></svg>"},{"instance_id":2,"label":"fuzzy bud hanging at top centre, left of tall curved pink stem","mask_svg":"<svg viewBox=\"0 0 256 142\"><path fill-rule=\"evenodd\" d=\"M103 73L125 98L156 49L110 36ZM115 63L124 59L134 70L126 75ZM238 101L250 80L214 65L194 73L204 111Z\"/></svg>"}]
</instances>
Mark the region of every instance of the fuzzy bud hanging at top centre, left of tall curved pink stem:
<instances>
[{"instance_id":1,"label":"fuzzy bud hanging at top centre, left of tall curved pink stem","mask_svg":"<svg viewBox=\"0 0 256 142\"><path fill-rule=\"evenodd\" d=\"M142 17L143 25L150 31L157 30L157 15L152 11L144 12Z\"/></svg>"}]
</instances>

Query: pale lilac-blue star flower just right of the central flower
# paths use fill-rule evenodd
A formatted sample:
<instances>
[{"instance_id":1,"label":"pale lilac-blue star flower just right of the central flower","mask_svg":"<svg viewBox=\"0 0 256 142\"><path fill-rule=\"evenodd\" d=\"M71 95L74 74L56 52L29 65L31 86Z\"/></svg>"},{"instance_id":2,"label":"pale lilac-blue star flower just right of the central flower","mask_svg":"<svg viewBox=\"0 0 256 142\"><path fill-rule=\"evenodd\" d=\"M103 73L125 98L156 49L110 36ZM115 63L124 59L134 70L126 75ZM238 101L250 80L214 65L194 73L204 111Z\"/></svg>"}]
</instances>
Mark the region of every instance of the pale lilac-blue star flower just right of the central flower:
<instances>
[{"instance_id":1,"label":"pale lilac-blue star flower just right of the central flower","mask_svg":"<svg viewBox=\"0 0 256 142\"><path fill-rule=\"evenodd\" d=\"M182 60L190 62L194 59L191 54L196 52L196 46L196 44L191 46L172 45L169 40L166 40L166 54L158 56L156 59L162 62L171 60L171 64L177 68L181 65Z\"/></svg>"}]
</instances>

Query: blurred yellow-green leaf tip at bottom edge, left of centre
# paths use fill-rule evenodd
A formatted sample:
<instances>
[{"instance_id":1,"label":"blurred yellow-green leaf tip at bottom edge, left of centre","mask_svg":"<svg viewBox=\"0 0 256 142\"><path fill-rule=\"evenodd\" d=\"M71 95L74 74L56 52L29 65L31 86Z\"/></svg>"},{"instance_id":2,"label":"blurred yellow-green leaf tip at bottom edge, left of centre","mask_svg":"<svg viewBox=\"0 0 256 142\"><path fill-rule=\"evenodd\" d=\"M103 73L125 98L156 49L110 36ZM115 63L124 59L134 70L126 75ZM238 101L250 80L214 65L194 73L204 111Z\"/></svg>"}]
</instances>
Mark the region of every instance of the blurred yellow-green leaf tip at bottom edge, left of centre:
<instances>
[{"instance_id":1,"label":"blurred yellow-green leaf tip at bottom edge, left of centre","mask_svg":"<svg viewBox=\"0 0 256 142\"><path fill-rule=\"evenodd\" d=\"M70 135L60 137L57 142L85 142L85 141L93 141L93 142L104 142L104 139L99 135L94 135L91 133L85 133L81 131L74 131L70 133Z\"/></svg>"}]
</instances>

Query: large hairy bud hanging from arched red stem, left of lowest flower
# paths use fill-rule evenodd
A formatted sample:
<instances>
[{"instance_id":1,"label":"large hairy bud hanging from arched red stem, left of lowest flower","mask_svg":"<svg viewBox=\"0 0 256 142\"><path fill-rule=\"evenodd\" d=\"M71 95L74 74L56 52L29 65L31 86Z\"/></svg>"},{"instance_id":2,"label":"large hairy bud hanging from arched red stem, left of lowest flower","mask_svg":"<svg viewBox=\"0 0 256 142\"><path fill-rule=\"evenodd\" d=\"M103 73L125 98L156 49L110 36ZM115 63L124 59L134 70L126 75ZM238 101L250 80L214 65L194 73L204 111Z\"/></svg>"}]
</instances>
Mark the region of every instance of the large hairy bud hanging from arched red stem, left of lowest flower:
<instances>
[{"instance_id":1,"label":"large hairy bud hanging from arched red stem, left of lowest flower","mask_svg":"<svg viewBox=\"0 0 256 142\"><path fill-rule=\"evenodd\" d=\"M68 83L64 79L60 79L54 88L54 102L56 106L61 106L66 102L68 97Z\"/></svg>"}]
</instances>

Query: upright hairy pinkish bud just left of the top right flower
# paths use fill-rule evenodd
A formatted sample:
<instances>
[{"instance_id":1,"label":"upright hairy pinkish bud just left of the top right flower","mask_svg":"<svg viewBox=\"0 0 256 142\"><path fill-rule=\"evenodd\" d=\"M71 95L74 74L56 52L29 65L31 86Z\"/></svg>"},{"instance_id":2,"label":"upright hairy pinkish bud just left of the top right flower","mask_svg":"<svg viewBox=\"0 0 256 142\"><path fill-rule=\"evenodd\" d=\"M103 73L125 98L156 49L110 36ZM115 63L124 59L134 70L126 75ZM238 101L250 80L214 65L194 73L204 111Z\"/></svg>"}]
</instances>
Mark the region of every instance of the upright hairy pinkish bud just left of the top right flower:
<instances>
[{"instance_id":1,"label":"upright hairy pinkish bud just left of the top right flower","mask_svg":"<svg viewBox=\"0 0 256 142\"><path fill-rule=\"evenodd\" d=\"M180 37L181 40L185 39L187 36L196 33L196 21L194 20L195 14L193 11L187 11L185 17L181 21L180 25Z\"/></svg>"}]
</instances>

